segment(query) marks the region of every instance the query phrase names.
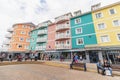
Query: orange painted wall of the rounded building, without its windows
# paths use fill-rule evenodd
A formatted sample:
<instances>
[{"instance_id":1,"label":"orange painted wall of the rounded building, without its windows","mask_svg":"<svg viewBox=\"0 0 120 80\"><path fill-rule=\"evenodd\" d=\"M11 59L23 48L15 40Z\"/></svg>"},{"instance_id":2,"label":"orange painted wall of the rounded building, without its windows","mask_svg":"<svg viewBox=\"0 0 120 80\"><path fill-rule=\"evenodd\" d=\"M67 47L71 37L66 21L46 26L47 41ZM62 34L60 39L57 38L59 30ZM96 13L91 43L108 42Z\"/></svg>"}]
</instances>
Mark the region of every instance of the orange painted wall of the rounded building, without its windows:
<instances>
[{"instance_id":1,"label":"orange painted wall of the rounded building, without its windows","mask_svg":"<svg viewBox=\"0 0 120 80\"><path fill-rule=\"evenodd\" d=\"M29 32L33 27L27 24L16 24L13 28L14 31L12 33L9 51L27 51L30 43L27 39L30 39ZM24 32L24 34L22 34L22 32ZM20 38L23 38L24 40L20 41ZM19 45L22 47L19 48Z\"/></svg>"}]
</instances>

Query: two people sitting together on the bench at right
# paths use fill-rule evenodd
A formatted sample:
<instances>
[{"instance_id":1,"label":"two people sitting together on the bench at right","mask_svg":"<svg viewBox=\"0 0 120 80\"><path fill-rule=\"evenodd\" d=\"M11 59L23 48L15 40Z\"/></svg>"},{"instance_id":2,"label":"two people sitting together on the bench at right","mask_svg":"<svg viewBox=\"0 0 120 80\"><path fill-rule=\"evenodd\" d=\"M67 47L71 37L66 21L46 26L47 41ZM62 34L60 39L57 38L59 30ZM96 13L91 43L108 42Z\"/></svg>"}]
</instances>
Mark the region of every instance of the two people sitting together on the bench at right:
<instances>
[{"instance_id":1,"label":"two people sitting together on the bench at right","mask_svg":"<svg viewBox=\"0 0 120 80\"><path fill-rule=\"evenodd\" d=\"M102 71L102 75L112 75L112 68L111 68L111 64L108 60L104 60L103 64L101 62L101 60L98 61L97 63L97 71L98 73L100 73L100 70ZM107 73L108 71L108 73Z\"/></svg>"}]
</instances>

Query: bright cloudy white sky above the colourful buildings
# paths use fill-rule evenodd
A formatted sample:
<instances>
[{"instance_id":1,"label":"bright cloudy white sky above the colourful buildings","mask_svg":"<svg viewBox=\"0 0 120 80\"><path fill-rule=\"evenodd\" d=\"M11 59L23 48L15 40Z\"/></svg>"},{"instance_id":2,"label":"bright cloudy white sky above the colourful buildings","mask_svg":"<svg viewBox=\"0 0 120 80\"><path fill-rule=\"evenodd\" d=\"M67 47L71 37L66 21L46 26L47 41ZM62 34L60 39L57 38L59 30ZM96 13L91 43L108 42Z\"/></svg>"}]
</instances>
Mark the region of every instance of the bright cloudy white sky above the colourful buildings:
<instances>
[{"instance_id":1,"label":"bright cloudy white sky above the colourful buildings","mask_svg":"<svg viewBox=\"0 0 120 80\"><path fill-rule=\"evenodd\" d=\"M90 11L91 5L101 6L120 0L0 0L0 45L6 40L7 29L15 23L32 22L35 25L68 12Z\"/></svg>"}]
</instances>

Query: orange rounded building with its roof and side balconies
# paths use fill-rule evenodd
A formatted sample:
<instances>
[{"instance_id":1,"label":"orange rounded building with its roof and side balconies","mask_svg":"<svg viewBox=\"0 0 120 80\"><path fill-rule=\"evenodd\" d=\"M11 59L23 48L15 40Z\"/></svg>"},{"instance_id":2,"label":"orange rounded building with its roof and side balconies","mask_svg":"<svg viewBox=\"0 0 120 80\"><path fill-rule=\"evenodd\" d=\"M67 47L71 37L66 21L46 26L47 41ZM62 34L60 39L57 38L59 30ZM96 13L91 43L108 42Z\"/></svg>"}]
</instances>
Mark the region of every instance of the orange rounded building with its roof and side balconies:
<instances>
[{"instance_id":1,"label":"orange rounded building with its roof and side balconies","mask_svg":"<svg viewBox=\"0 0 120 80\"><path fill-rule=\"evenodd\" d=\"M10 34L7 38L10 39L10 46L8 51L10 52L25 52L29 49L30 43L30 31L35 28L33 23L18 23L14 24L9 31Z\"/></svg>"}]
</instances>

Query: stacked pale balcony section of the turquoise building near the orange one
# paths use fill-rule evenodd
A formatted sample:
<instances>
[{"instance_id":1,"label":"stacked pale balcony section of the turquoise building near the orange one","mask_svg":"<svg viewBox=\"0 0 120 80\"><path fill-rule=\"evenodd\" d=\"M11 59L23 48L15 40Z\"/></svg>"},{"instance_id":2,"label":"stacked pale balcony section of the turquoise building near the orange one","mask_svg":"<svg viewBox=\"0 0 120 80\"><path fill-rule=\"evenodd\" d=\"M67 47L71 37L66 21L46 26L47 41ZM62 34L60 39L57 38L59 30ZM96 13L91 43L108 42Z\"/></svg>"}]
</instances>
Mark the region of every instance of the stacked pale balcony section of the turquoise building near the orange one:
<instances>
[{"instance_id":1,"label":"stacked pale balcony section of the turquoise building near the orange one","mask_svg":"<svg viewBox=\"0 0 120 80\"><path fill-rule=\"evenodd\" d=\"M36 41L36 49L37 51L45 51L47 46L47 38L48 38L48 25L51 24L51 21L45 21L37 26L37 41Z\"/></svg>"}]
</instances>

